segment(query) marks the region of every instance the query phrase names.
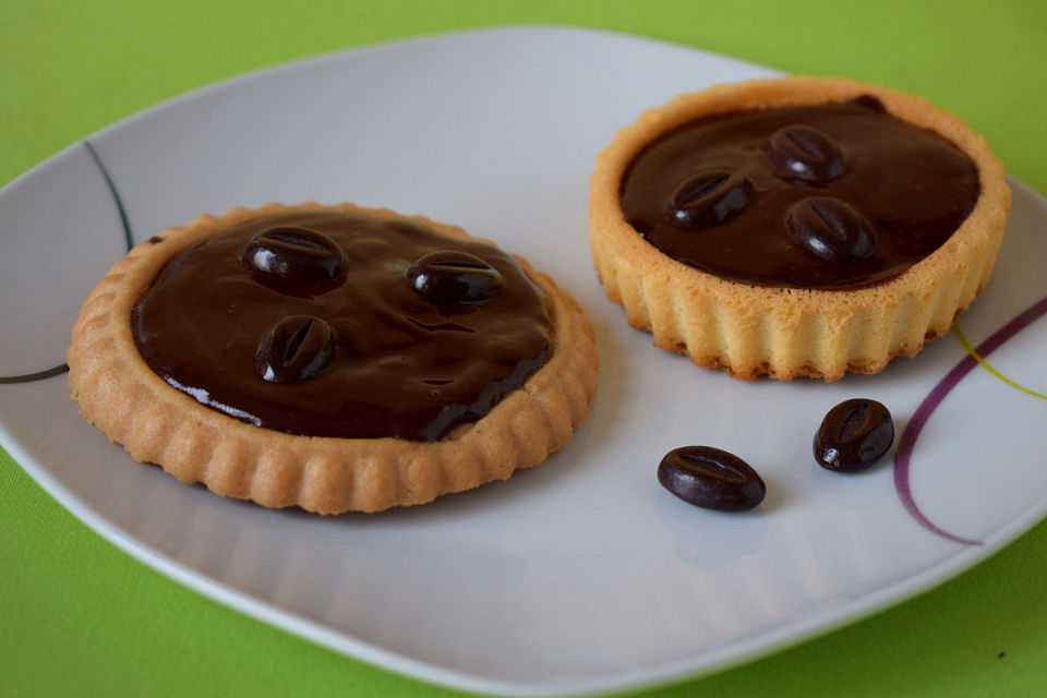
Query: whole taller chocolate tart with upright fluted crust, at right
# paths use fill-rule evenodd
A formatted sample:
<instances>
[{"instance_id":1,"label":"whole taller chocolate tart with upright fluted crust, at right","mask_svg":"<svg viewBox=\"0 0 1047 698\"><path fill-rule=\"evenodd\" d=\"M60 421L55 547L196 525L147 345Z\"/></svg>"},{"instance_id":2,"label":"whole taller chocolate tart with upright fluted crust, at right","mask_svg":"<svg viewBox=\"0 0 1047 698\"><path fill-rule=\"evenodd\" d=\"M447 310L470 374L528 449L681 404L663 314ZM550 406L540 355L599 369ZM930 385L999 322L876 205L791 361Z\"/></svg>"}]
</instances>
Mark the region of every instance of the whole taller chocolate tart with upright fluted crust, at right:
<instances>
[{"instance_id":1,"label":"whole taller chocolate tart with upright fluted crust, at right","mask_svg":"<svg viewBox=\"0 0 1047 698\"><path fill-rule=\"evenodd\" d=\"M949 329L1009 205L984 139L923 98L756 80L618 131L590 178L589 240L607 297L659 348L739 378L834 381Z\"/></svg>"}]
</instances>

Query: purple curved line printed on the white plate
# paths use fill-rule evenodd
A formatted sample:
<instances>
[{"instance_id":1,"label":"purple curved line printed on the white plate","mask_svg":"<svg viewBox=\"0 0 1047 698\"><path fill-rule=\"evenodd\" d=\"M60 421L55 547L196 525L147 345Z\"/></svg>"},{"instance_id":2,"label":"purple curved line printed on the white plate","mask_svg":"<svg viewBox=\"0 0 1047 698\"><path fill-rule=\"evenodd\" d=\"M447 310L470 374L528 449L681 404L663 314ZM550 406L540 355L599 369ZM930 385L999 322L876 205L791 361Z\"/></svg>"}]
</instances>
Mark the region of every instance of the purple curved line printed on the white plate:
<instances>
[{"instance_id":1,"label":"purple curved line printed on the white plate","mask_svg":"<svg viewBox=\"0 0 1047 698\"><path fill-rule=\"evenodd\" d=\"M985 359L999 349L1008 339L1028 327L1035 320L1045 314L1047 314L1047 296L1039 299L1018 317L992 333L988 339L975 347L975 351ZM938 528L930 519L924 516L919 507L916 506L916 501L913 500L913 491L908 484L908 471L913 446L916 445L916 437L919 436L919 432L923 431L927 420L930 419L934 411L941 405L941 401L946 399L946 396L952 392L952 388L956 387L960 381L977 365L978 362L974 360L974 357L967 354L946 374L946 377L934 387L927 397L924 398L924 401L919 404L919 407L916 408L913 418L908 420L908 424L905 425L905 431L902 432L902 437L898 441L898 448L894 452L894 490L898 491L902 506L905 507L908 515L916 519L924 528L942 538L965 545L980 545L982 541L953 535Z\"/></svg>"}]
</instances>

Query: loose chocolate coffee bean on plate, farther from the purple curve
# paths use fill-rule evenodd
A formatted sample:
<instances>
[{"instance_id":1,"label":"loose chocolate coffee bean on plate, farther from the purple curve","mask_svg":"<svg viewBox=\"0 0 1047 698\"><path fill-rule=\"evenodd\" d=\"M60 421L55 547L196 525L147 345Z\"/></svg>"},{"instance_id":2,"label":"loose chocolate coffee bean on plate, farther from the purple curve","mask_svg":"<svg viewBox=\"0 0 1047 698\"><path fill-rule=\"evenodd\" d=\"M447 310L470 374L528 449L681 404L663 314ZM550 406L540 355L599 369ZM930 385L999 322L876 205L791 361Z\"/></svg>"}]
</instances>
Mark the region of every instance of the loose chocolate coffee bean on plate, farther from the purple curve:
<instances>
[{"instance_id":1,"label":"loose chocolate coffee bean on plate, farther from the purple curve","mask_svg":"<svg viewBox=\"0 0 1047 698\"><path fill-rule=\"evenodd\" d=\"M751 509L767 494L749 464L709 446L669 452L658 466L658 481L684 502L720 512Z\"/></svg>"}]
</instances>

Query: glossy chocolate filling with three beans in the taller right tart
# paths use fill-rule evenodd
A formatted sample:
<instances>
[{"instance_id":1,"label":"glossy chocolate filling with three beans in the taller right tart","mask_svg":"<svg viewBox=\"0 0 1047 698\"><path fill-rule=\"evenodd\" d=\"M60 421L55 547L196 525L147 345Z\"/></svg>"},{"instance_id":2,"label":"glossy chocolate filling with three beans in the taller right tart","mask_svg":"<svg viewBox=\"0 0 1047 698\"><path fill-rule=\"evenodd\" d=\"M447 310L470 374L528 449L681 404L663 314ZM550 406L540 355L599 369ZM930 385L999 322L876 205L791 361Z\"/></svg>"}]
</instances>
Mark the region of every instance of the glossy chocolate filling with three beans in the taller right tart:
<instances>
[{"instance_id":1,"label":"glossy chocolate filling with three beans in the taller right tart","mask_svg":"<svg viewBox=\"0 0 1047 698\"><path fill-rule=\"evenodd\" d=\"M619 196L629 225L684 264L759 286L845 290L940 248L979 191L960 148L866 95L685 123L633 159Z\"/></svg>"}]
</instances>

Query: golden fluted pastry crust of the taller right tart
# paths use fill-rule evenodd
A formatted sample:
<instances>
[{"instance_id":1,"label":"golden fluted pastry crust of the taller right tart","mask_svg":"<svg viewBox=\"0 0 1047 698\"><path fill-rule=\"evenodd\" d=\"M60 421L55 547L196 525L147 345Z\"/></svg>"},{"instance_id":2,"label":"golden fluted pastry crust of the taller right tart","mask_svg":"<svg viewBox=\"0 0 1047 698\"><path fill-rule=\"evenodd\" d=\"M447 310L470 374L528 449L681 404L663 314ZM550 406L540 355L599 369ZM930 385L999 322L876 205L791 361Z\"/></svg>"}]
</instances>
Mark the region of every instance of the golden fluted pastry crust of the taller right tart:
<instances>
[{"instance_id":1,"label":"golden fluted pastry crust of the taller right tart","mask_svg":"<svg viewBox=\"0 0 1047 698\"><path fill-rule=\"evenodd\" d=\"M701 116L843 101L872 95L892 115L956 144L978 168L980 196L946 243L900 276L857 290L753 286L677 262L629 226L618 198L633 158ZM738 378L840 378L876 373L944 334L988 281L1011 191L985 140L926 99L850 80L784 77L717 85L649 109L597 156L589 180L589 242L607 298L654 345Z\"/></svg>"}]
</instances>

